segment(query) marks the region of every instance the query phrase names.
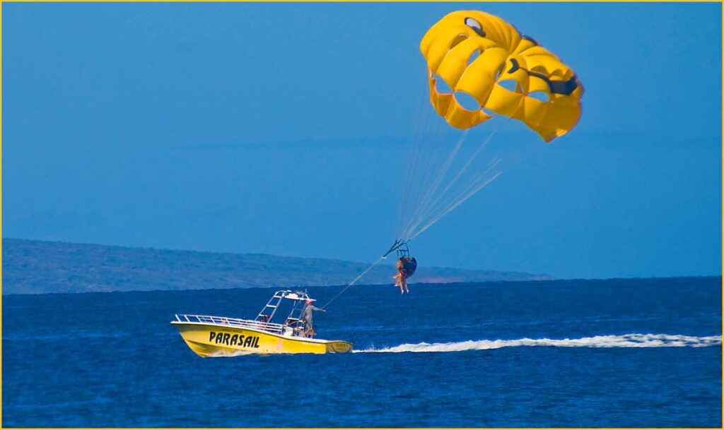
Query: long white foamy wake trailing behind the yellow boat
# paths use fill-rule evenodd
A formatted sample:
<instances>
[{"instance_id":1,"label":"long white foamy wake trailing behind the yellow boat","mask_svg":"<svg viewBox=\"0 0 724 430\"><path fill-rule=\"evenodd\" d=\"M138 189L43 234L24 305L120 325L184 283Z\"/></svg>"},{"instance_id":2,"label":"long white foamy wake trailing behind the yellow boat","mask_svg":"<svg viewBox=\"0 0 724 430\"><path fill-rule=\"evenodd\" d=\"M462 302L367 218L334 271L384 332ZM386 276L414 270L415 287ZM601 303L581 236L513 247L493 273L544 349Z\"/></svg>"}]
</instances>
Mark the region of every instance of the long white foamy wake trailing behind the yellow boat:
<instances>
[{"instance_id":1,"label":"long white foamy wake trailing behind the yellow boat","mask_svg":"<svg viewBox=\"0 0 724 430\"><path fill-rule=\"evenodd\" d=\"M451 343L403 343L391 348L369 348L353 353L448 353L510 348L514 346L555 346L559 348L665 348L715 346L722 344L721 336L685 335L605 335L578 339L513 339L467 340Z\"/></svg>"}]
</instances>

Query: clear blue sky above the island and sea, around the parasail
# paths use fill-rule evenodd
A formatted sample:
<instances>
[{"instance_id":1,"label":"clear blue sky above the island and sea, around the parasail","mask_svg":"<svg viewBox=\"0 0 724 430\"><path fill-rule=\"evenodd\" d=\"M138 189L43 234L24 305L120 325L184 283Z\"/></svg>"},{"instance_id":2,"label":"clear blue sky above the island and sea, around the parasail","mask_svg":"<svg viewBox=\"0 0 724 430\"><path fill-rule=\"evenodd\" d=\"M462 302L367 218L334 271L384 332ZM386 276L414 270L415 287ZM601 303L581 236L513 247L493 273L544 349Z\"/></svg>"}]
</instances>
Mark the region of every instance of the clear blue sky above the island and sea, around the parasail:
<instances>
[{"instance_id":1,"label":"clear blue sky above the island and sea, around the parasail","mask_svg":"<svg viewBox=\"0 0 724 430\"><path fill-rule=\"evenodd\" d=\"M479 9L571 66L584 113L550 145L503 121L502 175L420 264L721 274L721 4L1 7L5 238L374 261L439 126L421 37Z\"/></svg>"}]
</instances>

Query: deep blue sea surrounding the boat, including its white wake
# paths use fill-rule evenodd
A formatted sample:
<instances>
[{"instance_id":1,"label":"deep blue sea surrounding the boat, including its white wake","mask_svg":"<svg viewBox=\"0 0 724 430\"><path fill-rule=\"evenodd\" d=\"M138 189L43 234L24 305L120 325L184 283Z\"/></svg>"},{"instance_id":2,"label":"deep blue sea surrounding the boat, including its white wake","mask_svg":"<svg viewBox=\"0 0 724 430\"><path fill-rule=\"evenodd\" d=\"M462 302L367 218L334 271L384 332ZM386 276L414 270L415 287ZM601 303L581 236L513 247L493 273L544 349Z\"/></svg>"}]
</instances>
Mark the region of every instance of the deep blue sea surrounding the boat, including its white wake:
<instances>
[{"instance_id":1,"label":"deep blue sea surrounding the boat, including its white wake","mask_svg":"<svg viewBox=\"0 0 724 430\"><path fill-rule=\"evenodd\" d=\"M339 287L309 288L324 304ZM4 296L4 427L720 427L720 278L355 286L355 353L200 358L268 289Z\"/></svg>"}]
</instances>

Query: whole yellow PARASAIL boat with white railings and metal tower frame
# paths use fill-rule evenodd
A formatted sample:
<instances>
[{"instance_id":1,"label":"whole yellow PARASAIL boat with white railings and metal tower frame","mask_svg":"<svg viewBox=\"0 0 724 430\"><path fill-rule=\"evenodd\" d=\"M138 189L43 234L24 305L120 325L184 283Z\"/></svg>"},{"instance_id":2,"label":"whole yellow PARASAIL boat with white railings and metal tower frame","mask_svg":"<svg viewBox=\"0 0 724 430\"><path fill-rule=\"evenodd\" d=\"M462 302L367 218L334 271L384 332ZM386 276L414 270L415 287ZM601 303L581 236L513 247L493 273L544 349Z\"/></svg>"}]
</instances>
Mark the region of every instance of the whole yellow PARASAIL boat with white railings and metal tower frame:
<instances>
[{"instance_id":1,"label":"whole yellow PARASAIL boat with white railings and metal tower frame","mask_svg":"<svg viewBox=\"0 0 724 430\"><path fill-rule=\"evenodd\" d=\"M291 311L284 323L272 322L285 301L290 301ZM308 301L314 300L306 291L277 291L256 319L177 314L171 324L179 330L191 351L202 357L351 351L349 342L313 338L312 327L306 327L300 319Z\"/></svg>"}]
</instances>

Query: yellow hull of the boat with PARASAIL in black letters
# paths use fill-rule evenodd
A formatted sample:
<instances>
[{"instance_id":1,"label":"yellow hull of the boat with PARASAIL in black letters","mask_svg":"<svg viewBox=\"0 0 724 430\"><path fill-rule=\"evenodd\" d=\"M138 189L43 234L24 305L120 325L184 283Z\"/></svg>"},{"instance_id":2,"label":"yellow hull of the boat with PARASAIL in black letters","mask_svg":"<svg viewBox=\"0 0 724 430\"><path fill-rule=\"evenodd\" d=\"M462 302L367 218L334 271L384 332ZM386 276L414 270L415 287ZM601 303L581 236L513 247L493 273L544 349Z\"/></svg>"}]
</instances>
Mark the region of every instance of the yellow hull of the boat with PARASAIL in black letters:
<instances>
[{"instance_id":1,"label":"yellow hull of the boat with PARASAIL in black letters","mask_svg":"<svg viewBox=\"0 0 724 430\"><path fill-rule=\"evenodd\" d=\"M191 351L202 357L245 354L347 353L352 344L342 340L308 339L264 330L222 324L172 322Z\"/></svg>"}]
</instances>

